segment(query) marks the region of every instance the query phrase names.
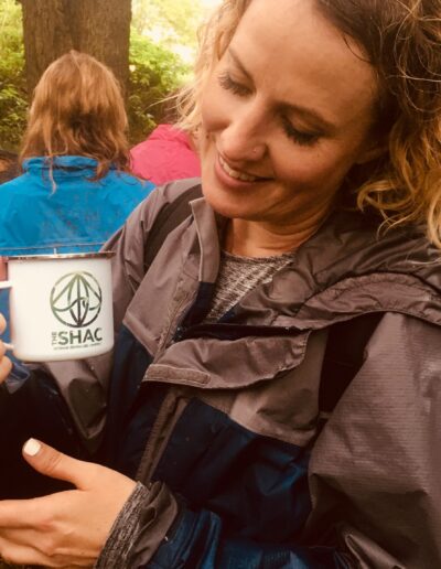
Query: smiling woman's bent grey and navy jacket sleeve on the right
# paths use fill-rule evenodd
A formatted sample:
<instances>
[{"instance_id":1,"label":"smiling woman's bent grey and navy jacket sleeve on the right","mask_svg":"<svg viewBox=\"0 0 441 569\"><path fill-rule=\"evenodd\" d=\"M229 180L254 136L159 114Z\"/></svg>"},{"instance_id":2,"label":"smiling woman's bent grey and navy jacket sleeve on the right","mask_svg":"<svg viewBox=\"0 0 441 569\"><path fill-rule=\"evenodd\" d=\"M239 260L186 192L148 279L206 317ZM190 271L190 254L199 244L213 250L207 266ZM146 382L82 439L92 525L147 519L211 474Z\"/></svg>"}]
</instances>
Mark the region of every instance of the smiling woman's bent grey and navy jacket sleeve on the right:
<instances>
[{"instance_id":1,"label":"smiling woman's bent grey and navy jacket sleeve on the right","mask_svg":"<svg viewBox=\"0 0 441 569\"><path fill-rule=\"evenodd\" d=\"M147 497L121 567L441 567L440 334L418 319L383 319L313 449L301 546L227 534L222 515L179 504L162 485L178 514L159 503L153 512ZM331 528L334 547L322 547Z\"/></svg>"}]
</instances>

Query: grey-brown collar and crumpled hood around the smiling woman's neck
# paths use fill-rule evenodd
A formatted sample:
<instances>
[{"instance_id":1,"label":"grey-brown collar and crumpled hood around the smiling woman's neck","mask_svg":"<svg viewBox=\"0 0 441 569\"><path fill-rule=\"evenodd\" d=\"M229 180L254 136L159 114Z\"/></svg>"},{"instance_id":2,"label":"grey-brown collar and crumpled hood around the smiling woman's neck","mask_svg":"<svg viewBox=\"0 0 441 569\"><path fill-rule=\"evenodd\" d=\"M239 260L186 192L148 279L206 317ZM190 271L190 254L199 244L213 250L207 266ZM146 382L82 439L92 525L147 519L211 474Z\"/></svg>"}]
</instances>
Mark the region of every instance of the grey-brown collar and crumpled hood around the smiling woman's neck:
<instances>
[{"instance_id":1,"label":"grey-brown collar and crumpled hood around the smiling woman's neck","mask_svg":"<svg viewBox=\"0 0 441 569\"><path fill-rule=\"evenodd\" d=\"M200 281L214 282L225 219L204 198L192 203L201 254ZM195 246L196 244L194 244ZM233 310L237 323L318 329L374 311L441 324L441 259L418 227L378 232L356 212L335 211L271 282Z\"/></svg>"}]
</instances>

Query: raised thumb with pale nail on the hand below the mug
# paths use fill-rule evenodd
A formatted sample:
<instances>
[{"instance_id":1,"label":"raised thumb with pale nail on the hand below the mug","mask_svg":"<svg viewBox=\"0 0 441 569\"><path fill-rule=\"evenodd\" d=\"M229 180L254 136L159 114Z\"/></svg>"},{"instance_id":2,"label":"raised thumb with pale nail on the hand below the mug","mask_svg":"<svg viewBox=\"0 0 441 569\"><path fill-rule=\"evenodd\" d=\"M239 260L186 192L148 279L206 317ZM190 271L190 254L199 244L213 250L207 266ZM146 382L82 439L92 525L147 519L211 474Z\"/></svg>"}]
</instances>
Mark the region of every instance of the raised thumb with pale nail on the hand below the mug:
<instances>
[{"instance_id":1,"label":"raised thumb with pale nail on the hand below the mug","mask_svg":"<svg viewBox=\"0 0 441 569\"><path fill-rule=\"evenodd\" d=\"M63 454L36 439L29 439L23 444L23 457L41 474L71 482L82 490L85 489L89 477L88 469L93 468L93 464Z\"/></svg>"}]
</instances>

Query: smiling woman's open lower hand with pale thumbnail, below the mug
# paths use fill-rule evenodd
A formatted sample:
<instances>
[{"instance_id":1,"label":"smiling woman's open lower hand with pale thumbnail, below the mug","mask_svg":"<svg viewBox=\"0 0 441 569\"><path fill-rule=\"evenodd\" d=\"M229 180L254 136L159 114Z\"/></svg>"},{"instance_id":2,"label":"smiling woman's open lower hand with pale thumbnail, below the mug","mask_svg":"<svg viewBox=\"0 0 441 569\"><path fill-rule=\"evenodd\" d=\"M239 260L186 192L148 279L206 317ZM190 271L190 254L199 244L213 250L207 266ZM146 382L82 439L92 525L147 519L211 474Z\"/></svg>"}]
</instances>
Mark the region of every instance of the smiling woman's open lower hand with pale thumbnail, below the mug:
<instances>
[{"instance_id":1,"label":"smiling woman's open lower hand with pale thumbnail, below the mug","mask_svg":"<svg viewBox=\"0 0 441 569\"><path fill-rule=\"evenodd\" d=\"M0 556L13 563L93 567L136 482L30 439L25 460L76 490L0 502Z\"/></svg>"}]
</instances>

